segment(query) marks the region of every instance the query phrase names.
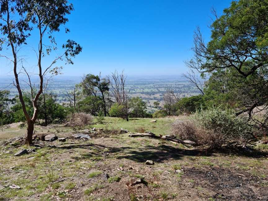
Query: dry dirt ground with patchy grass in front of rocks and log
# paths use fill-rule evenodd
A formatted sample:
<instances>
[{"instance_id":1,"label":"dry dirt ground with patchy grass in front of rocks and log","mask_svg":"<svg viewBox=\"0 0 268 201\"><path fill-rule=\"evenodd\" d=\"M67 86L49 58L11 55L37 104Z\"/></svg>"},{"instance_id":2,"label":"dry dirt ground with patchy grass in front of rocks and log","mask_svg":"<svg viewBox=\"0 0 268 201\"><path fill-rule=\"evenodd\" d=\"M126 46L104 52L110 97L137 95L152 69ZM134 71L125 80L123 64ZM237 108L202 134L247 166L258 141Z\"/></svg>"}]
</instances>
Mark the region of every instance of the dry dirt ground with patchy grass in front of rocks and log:
<instances>
[{"instance_id":1,"label":"dry dirt ground with patchy grass in front of rocks and log","mask_svg":"<svg viewBox=\"0 0 268 201\"><path fill-rule=\"evenodd\" d=\"M268 200L264 151L208 155L127 133L89 134L87 141L73 139L71 131L55 134L68 139L36 140L42 148L22 156L13 156L28 149L22 141L1 142L0 200Z\"/></svg>"}]
</instances>

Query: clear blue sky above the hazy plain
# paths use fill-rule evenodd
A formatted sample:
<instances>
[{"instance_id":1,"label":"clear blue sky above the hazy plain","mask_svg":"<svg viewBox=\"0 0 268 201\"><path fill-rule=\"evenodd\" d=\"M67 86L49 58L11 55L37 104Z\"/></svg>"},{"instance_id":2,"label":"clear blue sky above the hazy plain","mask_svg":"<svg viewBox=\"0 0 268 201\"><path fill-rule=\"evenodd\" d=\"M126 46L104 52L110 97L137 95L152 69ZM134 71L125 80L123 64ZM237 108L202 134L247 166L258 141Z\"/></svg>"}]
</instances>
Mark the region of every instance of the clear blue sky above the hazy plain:
<instances>
[{"instance_id":1,"label":"clear blue sky above the hazy plain","mask_svg":"<svg viewBox=\"0 0 268 201\"><path fill-rule=\"evenodd\" d=\"M174 75L187 71L184 60L191 57L197 26L209 40L211 8L221 14L230 0L72 0L74 9L67 27L71 32L55 34L58 44L71 38L83 51L74 65L65 66L64 75L109 74L117 69L128 75ZM34 39L34 38L33 38ZM34 40L28 44L35 46ZM35 57L24 51L28 65ZM51 59L45 57L43 64ZM0 75L11 67L0 60Z\"/></svg>"}]
</instances>

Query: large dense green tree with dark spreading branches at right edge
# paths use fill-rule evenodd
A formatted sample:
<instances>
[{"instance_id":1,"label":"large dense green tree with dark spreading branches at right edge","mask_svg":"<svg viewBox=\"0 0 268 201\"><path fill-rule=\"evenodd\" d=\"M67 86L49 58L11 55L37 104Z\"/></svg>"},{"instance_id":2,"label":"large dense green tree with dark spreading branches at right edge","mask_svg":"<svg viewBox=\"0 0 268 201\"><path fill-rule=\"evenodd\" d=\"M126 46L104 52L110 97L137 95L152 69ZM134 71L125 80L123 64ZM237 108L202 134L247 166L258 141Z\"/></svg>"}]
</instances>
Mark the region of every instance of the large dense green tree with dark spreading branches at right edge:
<instances>
[{"instance_id":1,"label":"large dense green tree with dark spreading branches at right edge","mask_svg":"<svg viewBox=\"0 0 268 201\"><path fill-rule=\"evenodd\" d=\"M210 41L197 29L186 65L212 75L207 84L234 96L241 103L237 115L248 112L250 120L268 106L268 0L232 1L221 16L213 14Z\"/></svg>"}]
</instances>

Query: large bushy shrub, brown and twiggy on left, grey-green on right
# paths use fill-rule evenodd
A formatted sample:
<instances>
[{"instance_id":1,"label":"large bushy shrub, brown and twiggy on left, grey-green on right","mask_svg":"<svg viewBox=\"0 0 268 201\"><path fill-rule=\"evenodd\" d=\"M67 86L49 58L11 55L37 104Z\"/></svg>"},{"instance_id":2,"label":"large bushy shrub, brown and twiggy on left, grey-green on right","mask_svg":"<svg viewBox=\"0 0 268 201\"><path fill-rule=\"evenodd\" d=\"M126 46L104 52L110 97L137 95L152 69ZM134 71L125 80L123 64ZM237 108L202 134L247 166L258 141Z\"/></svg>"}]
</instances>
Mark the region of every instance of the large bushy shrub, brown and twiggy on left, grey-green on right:
<instances>
[{"instance_id":1,"label":"large bushy shrub, brown and twiggy on left, grey-green on right","mask_svg":"<svg viewBox=\"0 0 268 201\"><path fill-rule=\"evenodd\" d=\"M201 109L190 120L173 123L172 130L181 140L209 145L212 149L231 141L243 141L251 136L245 118L236 117L233 110L220 108Z\"/></svg>"}]
</instances>

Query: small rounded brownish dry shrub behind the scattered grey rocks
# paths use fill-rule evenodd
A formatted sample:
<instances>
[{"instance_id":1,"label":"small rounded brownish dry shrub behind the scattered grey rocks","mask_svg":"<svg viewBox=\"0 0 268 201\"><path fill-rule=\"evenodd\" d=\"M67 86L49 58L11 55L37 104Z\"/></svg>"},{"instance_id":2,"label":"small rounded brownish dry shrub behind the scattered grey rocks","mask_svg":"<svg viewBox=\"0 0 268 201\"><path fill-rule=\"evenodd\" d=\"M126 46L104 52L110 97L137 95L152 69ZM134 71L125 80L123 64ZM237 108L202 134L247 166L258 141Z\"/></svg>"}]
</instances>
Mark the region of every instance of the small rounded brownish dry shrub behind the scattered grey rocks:
<instances>
[{"instance_id":1,"label":"small rounded brownish dry shrub behind the scattered grey rocks","mask_svg":"<svg viewBox=\"0 0 268 201\"><path fill-rule=\"evenodd\" d=\"M68 125L74 130L80 130L86 125L93 123L93 116L83 112L70 115Z\"/></svg>"}]
</instances>

